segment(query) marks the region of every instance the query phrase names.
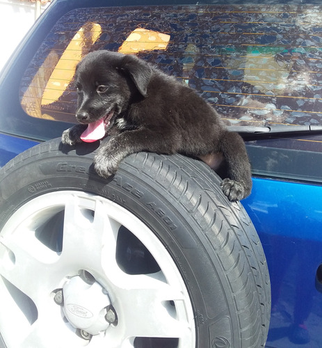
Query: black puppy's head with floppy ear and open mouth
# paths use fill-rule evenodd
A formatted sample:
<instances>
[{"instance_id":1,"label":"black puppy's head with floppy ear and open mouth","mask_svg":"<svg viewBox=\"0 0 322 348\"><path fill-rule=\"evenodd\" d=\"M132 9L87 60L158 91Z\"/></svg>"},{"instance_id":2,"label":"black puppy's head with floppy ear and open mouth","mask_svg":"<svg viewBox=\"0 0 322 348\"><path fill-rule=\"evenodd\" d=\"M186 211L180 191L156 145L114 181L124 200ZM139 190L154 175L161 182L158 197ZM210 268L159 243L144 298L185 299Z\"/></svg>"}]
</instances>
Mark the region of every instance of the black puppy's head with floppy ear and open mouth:
<instances>
[{"instance_id":1,"label":"black puppy's head with floppy ear and open mouth","mask_svg":"<svg viewBox=\"0 0 322 348\"><path fill-rule=\"evenodd\" d=\"M77 65L77 120L104 119L106 129L136 98L146 97L152 70L136 56L109 51L88 54Z\"/></svg>"}]
</instances>

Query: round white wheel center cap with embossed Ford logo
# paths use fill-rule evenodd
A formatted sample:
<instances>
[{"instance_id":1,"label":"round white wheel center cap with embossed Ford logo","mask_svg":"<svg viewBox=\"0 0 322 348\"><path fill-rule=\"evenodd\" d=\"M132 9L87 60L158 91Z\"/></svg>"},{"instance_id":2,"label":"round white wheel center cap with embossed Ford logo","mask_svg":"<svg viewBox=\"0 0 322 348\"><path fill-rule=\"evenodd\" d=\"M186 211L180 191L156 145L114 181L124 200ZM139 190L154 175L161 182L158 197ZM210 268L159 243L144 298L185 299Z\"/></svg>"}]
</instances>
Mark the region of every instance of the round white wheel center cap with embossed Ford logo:
<instances>
[{"instance_id":1,"label":"round white wheel center cap with embossed Ford logo","mask_svg":"<svg viewBox=\"0 0 322 348\"><path fill-rule=\"evenodd\" d=\"M80 276L75 276L64 285L63 295L63 312L74 328L91 335L98 335L108 328L105 315L111 301L99 283L88 284Z\"/></svg>"}]
</instances>

